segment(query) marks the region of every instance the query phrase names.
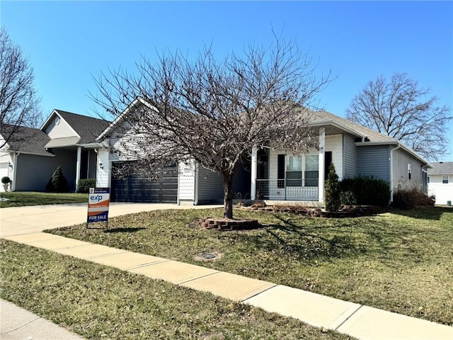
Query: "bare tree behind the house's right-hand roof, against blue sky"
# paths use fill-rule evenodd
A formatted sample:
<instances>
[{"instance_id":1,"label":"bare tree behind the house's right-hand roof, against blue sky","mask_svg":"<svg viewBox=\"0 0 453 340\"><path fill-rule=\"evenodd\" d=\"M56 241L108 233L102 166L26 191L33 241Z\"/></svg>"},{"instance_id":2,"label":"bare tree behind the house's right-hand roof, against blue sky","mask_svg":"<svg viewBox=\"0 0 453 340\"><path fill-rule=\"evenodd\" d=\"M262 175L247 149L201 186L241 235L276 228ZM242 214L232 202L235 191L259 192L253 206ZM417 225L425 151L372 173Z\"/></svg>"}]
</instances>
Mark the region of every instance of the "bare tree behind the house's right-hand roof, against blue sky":
<instances>
[{"instance_id":1,"label":"bare tree behind the house's right-hand roof, against blue sky","mask_svg":"<svg viewBox=\"0 0 453 340\"><path fill-rule=\"evenodd\" d=\"M430 89L405 73L390 81L378 77L369 81L352 99L347 117L356 123L401 140L427 159L436 159L447 149L447 125L453 116L447 106L436 106Z\"/></svg>"}]
</instances>

